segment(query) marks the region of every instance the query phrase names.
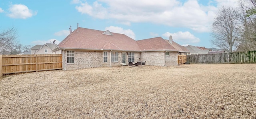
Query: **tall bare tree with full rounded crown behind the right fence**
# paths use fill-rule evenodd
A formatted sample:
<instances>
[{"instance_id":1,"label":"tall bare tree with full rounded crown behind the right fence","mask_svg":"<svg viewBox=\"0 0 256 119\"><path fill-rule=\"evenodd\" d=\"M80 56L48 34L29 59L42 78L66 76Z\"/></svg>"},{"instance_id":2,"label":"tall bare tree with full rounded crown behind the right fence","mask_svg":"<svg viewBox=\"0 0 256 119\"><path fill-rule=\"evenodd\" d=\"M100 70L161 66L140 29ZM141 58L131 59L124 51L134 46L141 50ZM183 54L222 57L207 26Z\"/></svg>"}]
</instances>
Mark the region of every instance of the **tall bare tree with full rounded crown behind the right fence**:
<instances>
[{"instance_id":1,"label":"tall bare tree with full rounded crown behind the right fence","mask_svg":"<svg viewBox=\"0 0 256 119\"><path fill-rule=\"evenodd\" d=\"M212 23L211 43L231 53L238 43L239 27L237 10L221 7Z\"/></svg>"}]
</instances>

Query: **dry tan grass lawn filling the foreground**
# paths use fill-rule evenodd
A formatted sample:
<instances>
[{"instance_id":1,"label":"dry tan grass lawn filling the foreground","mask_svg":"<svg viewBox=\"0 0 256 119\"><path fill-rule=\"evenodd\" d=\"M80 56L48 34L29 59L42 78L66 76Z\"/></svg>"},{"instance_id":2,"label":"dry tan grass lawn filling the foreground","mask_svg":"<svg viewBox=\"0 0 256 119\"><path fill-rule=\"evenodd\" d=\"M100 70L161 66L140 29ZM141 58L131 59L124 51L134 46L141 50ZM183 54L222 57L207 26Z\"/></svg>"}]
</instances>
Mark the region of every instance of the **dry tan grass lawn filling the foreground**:
<instances>
[{"instance_id":1,"label":"dry tan grass lawn filling the foreground","mask_svg":"<svg viewBox=\"0 0 256 119\"><path fill-rule=\"evenodd\" d=\"M256 64L55 70L0 80L0 118L256 118Z\"/></svg>"}]
</instances>

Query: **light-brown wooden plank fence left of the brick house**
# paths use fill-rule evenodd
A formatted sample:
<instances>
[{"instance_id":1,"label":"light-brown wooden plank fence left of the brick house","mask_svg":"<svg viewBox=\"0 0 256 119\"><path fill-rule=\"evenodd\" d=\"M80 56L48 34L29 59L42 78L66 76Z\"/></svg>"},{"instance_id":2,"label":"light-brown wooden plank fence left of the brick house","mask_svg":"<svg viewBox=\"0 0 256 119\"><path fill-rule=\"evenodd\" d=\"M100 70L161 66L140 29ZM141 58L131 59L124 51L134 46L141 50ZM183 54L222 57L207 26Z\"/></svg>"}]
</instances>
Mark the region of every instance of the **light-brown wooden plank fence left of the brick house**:
<instances>
[{"instance_id":1,"label":"light-brown wooden plank fence left of the brick house","mask_svg":"<svg viewBox=\"0 0 256 119\"><path fill-rule=\"evenodd\" d=\"M62 69L62 55L0 55L3 74Z\"/></svg>"}]
</instances>

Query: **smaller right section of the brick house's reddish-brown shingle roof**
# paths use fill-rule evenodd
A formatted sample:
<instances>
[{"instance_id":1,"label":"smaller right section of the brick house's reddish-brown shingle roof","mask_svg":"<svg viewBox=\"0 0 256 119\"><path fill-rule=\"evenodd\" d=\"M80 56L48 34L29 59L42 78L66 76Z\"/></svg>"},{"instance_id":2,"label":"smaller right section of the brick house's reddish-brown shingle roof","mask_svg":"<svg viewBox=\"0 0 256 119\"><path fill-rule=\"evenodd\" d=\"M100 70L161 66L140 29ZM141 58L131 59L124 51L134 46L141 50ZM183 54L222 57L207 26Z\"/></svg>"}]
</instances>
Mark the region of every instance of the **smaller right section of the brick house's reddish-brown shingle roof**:
<instances>
[{"instance_id":1,"label":"smaller right section of the brick house's reddish-brown shingle roof","mask_svg":"<svg viewBox=\"0 0 256 119\"><path fill-rule=\"evenodd\" d=\"M137 41L141 51L178 51L162 37Z\"/></svg>"}]
</instances>

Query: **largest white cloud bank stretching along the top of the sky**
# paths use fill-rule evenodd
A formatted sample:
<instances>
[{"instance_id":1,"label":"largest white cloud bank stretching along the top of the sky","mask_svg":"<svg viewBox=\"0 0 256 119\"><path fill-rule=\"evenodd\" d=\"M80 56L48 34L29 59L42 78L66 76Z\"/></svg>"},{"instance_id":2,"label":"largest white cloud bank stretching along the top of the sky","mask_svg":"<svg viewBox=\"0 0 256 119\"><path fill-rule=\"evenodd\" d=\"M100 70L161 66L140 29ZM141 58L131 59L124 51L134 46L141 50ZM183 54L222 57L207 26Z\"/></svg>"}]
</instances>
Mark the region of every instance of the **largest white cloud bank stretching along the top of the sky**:
<instances>
[{"instance_id":1,"label":"largest white cloud bank stretching along the top of the sky","mask_svg":"<svg viewBox=\"0 0 256 119\"><path fill-rule=\"evenodd\" d=\"M223 1L217 2L224 4ZM186 0L184 3L180 0L99 0L93 4L79 2L76 10L94 18L114 19L126 25L132 22L149 22L188 27L198 32L210 32L214 13L218 10L210 4L200 5L198 0Z\"/></svg>"}]
</instances>

